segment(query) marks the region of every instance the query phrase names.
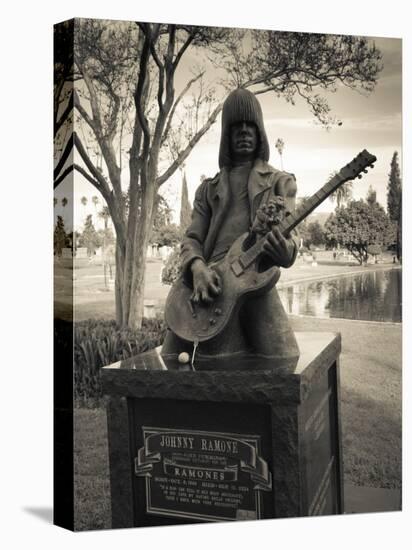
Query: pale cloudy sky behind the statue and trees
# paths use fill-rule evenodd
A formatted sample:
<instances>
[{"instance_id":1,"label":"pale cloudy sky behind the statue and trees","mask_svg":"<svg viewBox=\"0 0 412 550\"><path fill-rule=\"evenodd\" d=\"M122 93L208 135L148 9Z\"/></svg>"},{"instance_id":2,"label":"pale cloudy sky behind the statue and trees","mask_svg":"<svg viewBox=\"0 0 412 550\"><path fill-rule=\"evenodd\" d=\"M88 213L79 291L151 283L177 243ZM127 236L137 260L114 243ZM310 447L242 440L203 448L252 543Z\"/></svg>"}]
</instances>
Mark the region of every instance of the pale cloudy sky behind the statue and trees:
<instances>
[{"instance_id":1,"label":"pale cloudy sky behind the statue and trees","mask_svg":"<svg viewBox=\"0 0 412 550\"><path fill-rule=\"evenodd\" d=\"M367 149L377 157L374 170L356 179L353 197L364 198L371 185L377 192L377 200L386 207L386 186L390 161L394 151L402 159L402 41L397 38L371 38L381 50L383 70L380 73L375 90L368 96L362 95L345 86L336 93L325 93L332 113L342 121L327 131L314 122L311 113L302 101L296 105L288 104L273 94L259 95L265 128L270 144L269 162L281 168L275 142L282 138L285 142L283 168L295 174L298 184L298 196L315 193L332 172L350 162L361 150ZM182 59L185 62L180 69L176 88L187 80L191 67L197 59L190 55ZM180 82L179 82L180 79ZM189 198L192 201L195 190L200 184L201 175L214 176L218 171L218 151L220 140L220 116L209 132L196 145L185 162ZM125 147L127 148L127 147ZM123 185L127 187L127 159L123 171ZM169 204L175 210L178 220L182 173L177 171L162 188ZM62 182L55 192L59 204L55 215L64 213L60 205L63 196L70 197L70 178ZM81 227L88 213L95 213L92 196L98 195L95 188L81 175L76 173L74 206L75 225ZM81 197L88 198L83 206ZM334 204L326 200L318 207L318 212L331 212ZM100 222L102 223L102 222Z\"/></svg>"}]
</instances>

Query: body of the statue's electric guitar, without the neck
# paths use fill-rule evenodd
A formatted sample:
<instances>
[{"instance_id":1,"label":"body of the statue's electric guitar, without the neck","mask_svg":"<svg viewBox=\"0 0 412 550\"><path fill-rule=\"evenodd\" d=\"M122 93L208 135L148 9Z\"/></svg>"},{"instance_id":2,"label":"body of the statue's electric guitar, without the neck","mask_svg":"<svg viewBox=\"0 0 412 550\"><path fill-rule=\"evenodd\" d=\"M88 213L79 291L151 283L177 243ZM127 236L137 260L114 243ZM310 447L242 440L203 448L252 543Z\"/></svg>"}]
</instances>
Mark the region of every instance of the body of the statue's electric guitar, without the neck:
<instances>
[{"instance_id":1,"label":"body of the statue's electric guitar, without the neck","mask_svg":"<svg viewBox=\"0 0 412 550\"><path fill-rule=\"evenodd\" d=\"M259 272L259 258L239 270L238 259L247 236L244 233L236 239L222 260L209 264L218 273L222 290L211 304L193 304L193 288L183 277L174 283L166 301L165 320L182 340L205 342L217 336L246 298L268 292L279 280L280 269L276 266Z\"/></svg>"}]
</instances>

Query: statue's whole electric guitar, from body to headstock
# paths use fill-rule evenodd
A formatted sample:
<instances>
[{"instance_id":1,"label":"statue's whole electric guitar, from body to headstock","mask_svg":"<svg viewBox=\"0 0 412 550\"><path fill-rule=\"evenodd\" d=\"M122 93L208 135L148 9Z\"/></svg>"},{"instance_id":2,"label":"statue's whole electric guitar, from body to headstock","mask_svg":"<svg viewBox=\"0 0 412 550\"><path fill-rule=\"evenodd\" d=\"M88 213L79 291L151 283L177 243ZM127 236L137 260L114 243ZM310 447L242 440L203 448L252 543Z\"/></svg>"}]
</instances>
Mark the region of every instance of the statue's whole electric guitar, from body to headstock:
<instances>
[{"instance_id":1,"label":"statue's whole electric guitar, from body to headstock","mask_svg":"<svg viewBox=\"0 0 412 550\"><path fill-rule=\"evenodd\" d=\"M277 266L262 271L261 259L264 257L262 234L269 232L277 225L284 236L287 236L301 221L329 195L347 181L361 178L366 168L373 168L376 157L364 149L349 164L334 175L304 205L283 217L282 199L276 197L261 209L261 220L255 221L252 231L255 232L254 244L250 245L251 235L244 233L230 247L226 256L209 264L221 281L221 293L211 304L191 301L193 288L180 277L171 288L165 308L165 319L169 328L179 338L188 342L205 342L218 335L232 316L239 310L247 297L264 294L277 283L280 269ZM260 238L256 238L259 237Z\"/></svg>"}]
</instances>

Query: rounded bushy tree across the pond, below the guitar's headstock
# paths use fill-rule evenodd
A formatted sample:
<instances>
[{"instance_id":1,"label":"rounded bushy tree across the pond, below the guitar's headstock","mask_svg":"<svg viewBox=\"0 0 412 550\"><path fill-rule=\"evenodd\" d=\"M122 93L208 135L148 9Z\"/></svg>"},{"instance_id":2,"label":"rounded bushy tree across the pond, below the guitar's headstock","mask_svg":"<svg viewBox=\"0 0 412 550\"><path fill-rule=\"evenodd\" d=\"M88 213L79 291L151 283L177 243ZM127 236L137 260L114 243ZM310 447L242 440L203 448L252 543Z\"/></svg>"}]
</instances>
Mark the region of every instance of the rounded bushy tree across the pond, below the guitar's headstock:
<instances>
[{"instance_id":1,"label":"rounded bushy tree across the pond, below the guitar's headstock","mask_svg":"<svg viewBox=\"0 0 412 550\"><path fill-rule=\"evenodd\" d=\"M337 207L325 224L330 244L345 247L362 265L368 261L370 245L384 245L391 240L390 220L378 203L351 201Z\"/></svg>"}]
</instances>

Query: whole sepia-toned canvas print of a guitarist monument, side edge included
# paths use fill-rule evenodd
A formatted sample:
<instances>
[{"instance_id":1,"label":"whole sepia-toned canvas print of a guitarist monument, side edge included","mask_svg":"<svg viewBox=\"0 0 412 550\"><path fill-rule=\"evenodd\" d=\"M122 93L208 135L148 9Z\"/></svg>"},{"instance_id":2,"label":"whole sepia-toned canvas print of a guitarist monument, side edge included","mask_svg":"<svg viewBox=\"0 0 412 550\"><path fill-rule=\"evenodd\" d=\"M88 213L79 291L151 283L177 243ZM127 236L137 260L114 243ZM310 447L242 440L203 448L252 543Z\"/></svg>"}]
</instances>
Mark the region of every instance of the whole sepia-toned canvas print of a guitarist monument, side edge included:
<instances>
[{"instance_id":1,"label":"whole sepia-toned canvas print of a guitarist monument, side edge included","mask_svg":"<svg viewBox=\"0 0 412 550\"><path fill-rule=\"evenodd\" d=\"M402 40L366 35L54 26L55 524L402 510Z\"/></svg>"}]
</instances>

